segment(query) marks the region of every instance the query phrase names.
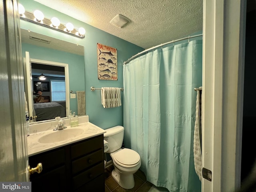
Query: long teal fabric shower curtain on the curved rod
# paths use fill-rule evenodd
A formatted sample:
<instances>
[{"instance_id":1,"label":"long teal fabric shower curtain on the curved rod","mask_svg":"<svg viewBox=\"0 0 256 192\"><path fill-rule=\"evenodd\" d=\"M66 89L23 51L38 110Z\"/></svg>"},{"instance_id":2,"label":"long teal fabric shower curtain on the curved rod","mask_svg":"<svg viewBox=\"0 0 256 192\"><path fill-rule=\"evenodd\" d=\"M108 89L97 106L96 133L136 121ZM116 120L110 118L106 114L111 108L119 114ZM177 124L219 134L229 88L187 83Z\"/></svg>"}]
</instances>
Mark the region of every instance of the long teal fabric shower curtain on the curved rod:
<instances>
[{"instance_id":1,"label":"long teal fabric shower curtain on the curved rod","mask_svg":"<svg viewBox=\"0 0 256 192\"><path fill-rule=\"evenodd\" d=\"M155 186L200 192L193 134L202 40L154 50L123 68L125 147L140 154L140 169Z\"/></svg>"}]
</instances>

